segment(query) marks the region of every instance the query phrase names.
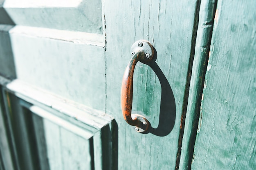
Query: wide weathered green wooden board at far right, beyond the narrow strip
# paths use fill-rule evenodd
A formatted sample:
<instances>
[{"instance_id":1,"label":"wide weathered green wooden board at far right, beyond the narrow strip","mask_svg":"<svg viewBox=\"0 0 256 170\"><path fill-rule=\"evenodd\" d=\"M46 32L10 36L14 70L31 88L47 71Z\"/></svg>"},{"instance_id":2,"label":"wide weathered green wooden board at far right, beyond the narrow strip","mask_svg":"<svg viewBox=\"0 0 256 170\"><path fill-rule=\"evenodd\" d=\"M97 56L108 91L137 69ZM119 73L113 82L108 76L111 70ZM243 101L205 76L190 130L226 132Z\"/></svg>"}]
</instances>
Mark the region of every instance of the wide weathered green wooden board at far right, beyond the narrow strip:
<instances>
[{"instance_id":1,"label":"wide weathered green wooden board at far right, beyond the narrow strip","mask_svg":"<svg viewBox=\"0 0 256 170\"><path fill-rule=\"evenodd\" d=\"M218 0L192 169L256 168L255 7Z\"/></svg>"}]
</instances>

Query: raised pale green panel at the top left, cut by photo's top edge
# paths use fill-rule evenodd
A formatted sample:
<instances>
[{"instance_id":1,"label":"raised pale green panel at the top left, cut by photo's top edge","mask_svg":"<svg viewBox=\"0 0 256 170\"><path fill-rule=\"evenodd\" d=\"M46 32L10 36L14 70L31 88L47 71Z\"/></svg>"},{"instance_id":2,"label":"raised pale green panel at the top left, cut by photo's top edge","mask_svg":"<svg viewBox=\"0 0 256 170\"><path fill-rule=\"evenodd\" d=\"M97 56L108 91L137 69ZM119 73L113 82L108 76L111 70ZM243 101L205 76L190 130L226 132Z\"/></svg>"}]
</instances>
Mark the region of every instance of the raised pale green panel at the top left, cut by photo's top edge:
<instances>
[{"instance_id":1,"label":"raised pale green panel at the top left, cut by photo's top edge","mask_svg":"<svg viewBox=\"0 0 256 170\"><path fill-rule=\"evenodd\" d=\"M103 33L101 0L5 0L4 9L17 25Z\"/></svg>"}]
</instances>

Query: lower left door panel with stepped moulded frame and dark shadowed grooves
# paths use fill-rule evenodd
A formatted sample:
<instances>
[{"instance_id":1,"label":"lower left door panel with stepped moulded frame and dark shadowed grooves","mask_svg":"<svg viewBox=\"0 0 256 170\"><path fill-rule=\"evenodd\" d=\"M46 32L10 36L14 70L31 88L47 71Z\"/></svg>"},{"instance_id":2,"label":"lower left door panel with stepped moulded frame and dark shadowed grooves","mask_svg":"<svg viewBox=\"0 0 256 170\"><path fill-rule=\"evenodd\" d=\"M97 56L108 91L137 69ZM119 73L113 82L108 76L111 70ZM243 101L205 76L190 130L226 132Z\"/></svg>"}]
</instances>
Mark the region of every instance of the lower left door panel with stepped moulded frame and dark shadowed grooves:
<instances>
[{"instance_id":1,"label":"lower left door panel with stepped moulded frame and dark shadowed grooves","mask_svg":"<svg viewBox=\"0 0 256 170\"><path fill-rule=\"evenodd\" d=\"M1 117L7 118L4 129L11 135L7 143L14 148L9 160L15 169L116 167L117 130L108 115L18 80L4 85L2 92L6 111Z\"/></svg>"}]
</instances>

